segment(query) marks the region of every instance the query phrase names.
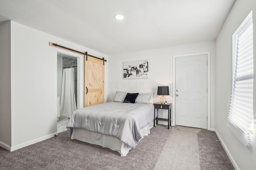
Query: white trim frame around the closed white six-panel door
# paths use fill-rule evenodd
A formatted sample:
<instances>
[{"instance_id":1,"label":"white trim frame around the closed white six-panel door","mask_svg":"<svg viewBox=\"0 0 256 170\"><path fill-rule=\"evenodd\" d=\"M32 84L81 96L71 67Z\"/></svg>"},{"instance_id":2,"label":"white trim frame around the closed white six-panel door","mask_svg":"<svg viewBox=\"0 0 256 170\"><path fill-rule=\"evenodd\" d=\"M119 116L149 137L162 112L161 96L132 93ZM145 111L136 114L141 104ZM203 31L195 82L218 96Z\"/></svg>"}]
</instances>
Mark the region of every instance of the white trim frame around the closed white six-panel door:
<instances>
[{"instance_id":1,"label":"white trim frame around the closed white six-panel door","mask_svg":"<svg viewBox=\"0 0 256 170\"><path fill-rule=\"evenodd\" d=\"M182 54L182 55L173 55L172 56L172 126L175 126L175 75L176 75L176 63L175 59L177 57L189 57L195 55L207 55L207 130L210 130L210 51L200 52L200 53L190 53L190 54Z\"/></svg>"}]
</instances>

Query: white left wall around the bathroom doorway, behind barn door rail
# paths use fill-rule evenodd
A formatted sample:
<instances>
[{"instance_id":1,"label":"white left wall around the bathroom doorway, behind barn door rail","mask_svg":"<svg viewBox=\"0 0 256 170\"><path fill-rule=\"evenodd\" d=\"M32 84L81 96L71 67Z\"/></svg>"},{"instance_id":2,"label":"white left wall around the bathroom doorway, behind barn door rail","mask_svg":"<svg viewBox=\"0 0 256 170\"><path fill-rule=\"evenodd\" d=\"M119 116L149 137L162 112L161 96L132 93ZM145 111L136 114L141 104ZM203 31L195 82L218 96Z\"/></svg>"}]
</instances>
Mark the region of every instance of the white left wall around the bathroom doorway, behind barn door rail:
<instances>
[{"instance_id":1,"label":"white left wall around the bathroom doorway, behind barn door rail","mask_svg":"<svg viewBox=\"0 0 256 170\"><path fill-rule=\"evenodd\" d=\"M107 55L11 21L11 150L42 141L57 133L57 52L49 41L108 59ZM83 77L83 56L80 77ZM80 56L80 58L79 58ZM108 71L105 71L108 81ZM83 82L79 86L83 87ZM106 90L105 96L107 97ZM83 91L80 91L82 98ZM80 106L81 107L81 106Z\"/></svg>"}]
</instances>

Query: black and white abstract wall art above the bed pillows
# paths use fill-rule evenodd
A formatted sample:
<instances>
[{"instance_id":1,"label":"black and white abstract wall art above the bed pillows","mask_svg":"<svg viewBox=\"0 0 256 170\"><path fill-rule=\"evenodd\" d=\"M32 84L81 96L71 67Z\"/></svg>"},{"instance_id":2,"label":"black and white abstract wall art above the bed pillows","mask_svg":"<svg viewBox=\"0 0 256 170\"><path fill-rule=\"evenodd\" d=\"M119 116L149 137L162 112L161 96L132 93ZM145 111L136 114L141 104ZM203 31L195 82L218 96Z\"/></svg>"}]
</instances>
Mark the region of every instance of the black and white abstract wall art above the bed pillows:
<instances>
[{"instance_id":1,"label":"black and white abstract wall art above the bed pillows","mask_svg":"<svg viewBox=\"0 0 256 170\"><path fill-rule=\"evenodd\" d=\"M123 79L148 78L148 60L123 62Z\"/></svg>"}]
</instances>

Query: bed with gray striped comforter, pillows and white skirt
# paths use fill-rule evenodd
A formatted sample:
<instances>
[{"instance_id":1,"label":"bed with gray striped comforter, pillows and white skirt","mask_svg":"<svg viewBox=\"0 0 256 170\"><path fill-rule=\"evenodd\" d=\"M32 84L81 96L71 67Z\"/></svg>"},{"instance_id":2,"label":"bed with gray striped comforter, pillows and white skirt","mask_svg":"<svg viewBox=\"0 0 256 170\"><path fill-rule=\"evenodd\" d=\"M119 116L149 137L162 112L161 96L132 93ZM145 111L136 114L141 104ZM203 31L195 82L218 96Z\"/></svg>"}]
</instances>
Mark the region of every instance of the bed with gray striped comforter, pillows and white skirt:
<instances>
[{"instance_id":1,"label":"bed with gray striped comforter, pillows and white skirt","mask_svg":"<svg viewBox=\"0 0 256 170\"><path fill-rule=\"evenodd\" d=\"M71 139L100 145L126 156L153 127L153 94L116 92L114 102L74 111L67 129Z\"/></svg>"}]
</instances>

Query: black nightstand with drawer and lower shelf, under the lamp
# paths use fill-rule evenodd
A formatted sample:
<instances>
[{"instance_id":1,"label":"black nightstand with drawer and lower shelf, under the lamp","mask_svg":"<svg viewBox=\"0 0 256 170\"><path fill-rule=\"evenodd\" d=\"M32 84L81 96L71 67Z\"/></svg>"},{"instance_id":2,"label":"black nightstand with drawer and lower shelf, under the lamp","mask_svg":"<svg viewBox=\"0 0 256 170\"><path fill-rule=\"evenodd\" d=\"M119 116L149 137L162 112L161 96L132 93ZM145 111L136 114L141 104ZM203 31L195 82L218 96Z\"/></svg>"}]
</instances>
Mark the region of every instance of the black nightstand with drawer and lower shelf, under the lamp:
<instances>
[{"instance_id":1,"label":"black nightstand with drawer and lower shelf, under the lamp","mask_svg":"<svg viewBox=\"0 0 256 170\"><path fill-rule=\"evenodd\" d=\"M155 117L156 116L156 109L158 112L158 109L168 109L168 119L160 118L160 117ZM168 129L170 127L170 122L171 122L171 109L172 109L172 104L161 104L161 103L154 103L154 126L155 126L155 120L156 124L158 124L158 120L162 121L168 121Z\"/></svg>"}]
</instances>

